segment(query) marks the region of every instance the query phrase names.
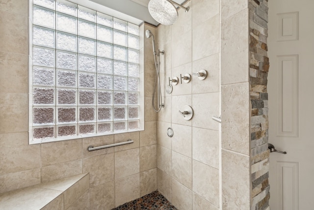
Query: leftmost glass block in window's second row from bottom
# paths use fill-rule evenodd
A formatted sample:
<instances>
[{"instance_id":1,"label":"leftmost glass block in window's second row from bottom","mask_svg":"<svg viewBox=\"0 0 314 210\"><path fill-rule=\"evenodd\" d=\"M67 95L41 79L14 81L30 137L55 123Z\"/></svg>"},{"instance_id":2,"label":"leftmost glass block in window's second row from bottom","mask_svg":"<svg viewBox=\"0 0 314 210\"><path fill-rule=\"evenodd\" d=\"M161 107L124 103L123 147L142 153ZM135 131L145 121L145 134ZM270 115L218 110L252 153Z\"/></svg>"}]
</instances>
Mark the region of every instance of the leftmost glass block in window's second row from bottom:
<instances>
[{"instance_id":1,"label":"leftmost glass block in window's second row from bottom","mask_svg":"<svg viewBox=\"0 0 314 210\"><path fill-rule=\"evenodd\" d=\"M34 124L50 124L54 123L53 108L33 108Z\"/></svg>"}]
</instances>

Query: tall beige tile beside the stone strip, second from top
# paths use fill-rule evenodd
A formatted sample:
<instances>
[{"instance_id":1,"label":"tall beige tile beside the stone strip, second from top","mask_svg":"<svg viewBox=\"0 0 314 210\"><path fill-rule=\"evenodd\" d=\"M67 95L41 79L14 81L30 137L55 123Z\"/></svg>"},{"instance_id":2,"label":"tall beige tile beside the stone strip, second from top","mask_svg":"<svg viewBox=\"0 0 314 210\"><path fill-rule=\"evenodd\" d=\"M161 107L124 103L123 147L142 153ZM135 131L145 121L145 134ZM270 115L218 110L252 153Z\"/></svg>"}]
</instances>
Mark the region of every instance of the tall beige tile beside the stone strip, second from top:
<instances>
[{"instance_id":1,"label":"tall beige tile beside the stone strip, second from top","mask_svg":"<svg viewBox=\"0 0 314 210\"><path fill-rule=\"evenodd\" d=\"M249 81L248 9L221 23L221 84Z\"/></svg>"}]
</instances>

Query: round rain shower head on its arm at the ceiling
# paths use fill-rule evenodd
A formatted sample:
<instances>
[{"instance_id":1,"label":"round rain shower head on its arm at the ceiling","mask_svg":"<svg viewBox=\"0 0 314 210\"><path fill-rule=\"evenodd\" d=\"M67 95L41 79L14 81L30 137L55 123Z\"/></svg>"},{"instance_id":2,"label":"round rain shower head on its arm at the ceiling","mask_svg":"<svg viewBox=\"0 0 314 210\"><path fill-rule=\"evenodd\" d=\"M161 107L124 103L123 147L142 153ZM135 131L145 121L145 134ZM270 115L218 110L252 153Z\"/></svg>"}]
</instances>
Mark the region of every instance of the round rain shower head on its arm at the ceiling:
<instances>
[{"instance_id":1,"label":"round rain shower head on its arm at the ceiling","mask_svg":"<svg viewBox=\"0 0 314 210\"><path fill-rule=\"evenodd\" d=\"M184 7L172 0L150 0L148 11L158 23L170 26L178 19L178 11L174 4L183 8L185 12L189 10L189 7Z\"/></svg>"}]
</instances>

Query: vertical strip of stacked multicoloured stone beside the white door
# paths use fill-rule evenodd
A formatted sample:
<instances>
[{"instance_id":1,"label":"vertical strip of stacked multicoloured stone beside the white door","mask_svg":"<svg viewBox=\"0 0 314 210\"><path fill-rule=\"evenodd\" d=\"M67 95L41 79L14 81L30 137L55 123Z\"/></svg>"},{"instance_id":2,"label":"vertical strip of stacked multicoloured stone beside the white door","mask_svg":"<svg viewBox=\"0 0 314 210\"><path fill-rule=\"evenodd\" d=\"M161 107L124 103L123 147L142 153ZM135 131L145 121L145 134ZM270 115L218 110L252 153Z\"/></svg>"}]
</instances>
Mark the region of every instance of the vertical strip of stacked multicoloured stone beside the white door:
<instances>
[{"instance_id":1,"label":"vertical strip of stacked multicoloured stone beside the white door","mask_svg":"<svg viewBox=\"0 0 314 210\"><path fill-rule=\"evenodd\" d=\"M267 22L268 0L249 0L251 109L251 210L269 210Z\"/></svg>"}]
</instances>

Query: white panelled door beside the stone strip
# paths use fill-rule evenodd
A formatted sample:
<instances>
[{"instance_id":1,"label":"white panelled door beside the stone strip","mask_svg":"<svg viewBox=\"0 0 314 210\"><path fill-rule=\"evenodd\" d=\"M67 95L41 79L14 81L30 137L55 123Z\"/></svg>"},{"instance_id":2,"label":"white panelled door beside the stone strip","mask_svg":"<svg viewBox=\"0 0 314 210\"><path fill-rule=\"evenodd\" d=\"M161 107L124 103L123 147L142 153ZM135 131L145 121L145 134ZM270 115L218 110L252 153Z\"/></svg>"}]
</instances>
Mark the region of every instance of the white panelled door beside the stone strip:
<instances>
[{"instance_id":1,"label":"white panelled door beside the stone strip","mask_svg":"<svg viewBox=\"0 0 314 210\"><path fill-rule=\"evenodd\" d=\"M314 210L314 0L268 7L269 205Z\"/></svg>"}]
</instances>

